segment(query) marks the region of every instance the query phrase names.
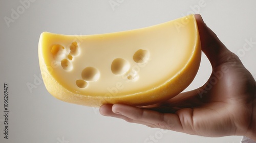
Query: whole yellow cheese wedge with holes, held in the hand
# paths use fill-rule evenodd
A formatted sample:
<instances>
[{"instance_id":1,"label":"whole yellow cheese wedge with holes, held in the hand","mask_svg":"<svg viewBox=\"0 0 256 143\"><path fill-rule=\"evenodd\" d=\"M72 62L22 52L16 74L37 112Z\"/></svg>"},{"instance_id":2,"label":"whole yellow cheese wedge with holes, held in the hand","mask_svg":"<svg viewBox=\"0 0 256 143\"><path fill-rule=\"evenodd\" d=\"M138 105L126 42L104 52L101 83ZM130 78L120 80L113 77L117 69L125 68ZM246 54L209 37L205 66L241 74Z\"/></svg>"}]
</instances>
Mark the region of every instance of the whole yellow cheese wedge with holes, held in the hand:
<instances>
[{"instance_id":1,"label":"whole yellow cheese wedge with holes, held in the hand","mask_svg":"<svg viewBox=\"0 0 256 143\"><path fill-rule=\"evenodd\" d=\"M194 15L109 34L44 32L38 50L47 90L62 101L93 107L173 98L193 81L201 60Z\"/></svg>"}]
</instances>

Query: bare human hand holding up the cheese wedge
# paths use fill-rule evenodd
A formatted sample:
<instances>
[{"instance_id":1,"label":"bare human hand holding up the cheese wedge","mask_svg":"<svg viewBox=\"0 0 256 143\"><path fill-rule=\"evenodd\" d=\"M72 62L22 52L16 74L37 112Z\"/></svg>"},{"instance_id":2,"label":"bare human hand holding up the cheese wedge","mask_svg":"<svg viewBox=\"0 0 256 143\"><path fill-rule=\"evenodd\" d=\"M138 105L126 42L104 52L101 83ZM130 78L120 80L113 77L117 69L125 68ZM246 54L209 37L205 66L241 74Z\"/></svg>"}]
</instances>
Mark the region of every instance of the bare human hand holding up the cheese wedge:
<instances>
[{"instance_id":1,"label":"bare human hand holding up the cheese wedge","mask_svg":"<svg viewBox=\"0 0 256 143\"><path fill-rule=\"evenodd\" d=\"M209 80L162 103L145 107L106 104L100 113L153 128L210 137L244 135L256 141L256 82L201 15L195 16L202 52L212 66Z\"/></svg>"}]
</instances>

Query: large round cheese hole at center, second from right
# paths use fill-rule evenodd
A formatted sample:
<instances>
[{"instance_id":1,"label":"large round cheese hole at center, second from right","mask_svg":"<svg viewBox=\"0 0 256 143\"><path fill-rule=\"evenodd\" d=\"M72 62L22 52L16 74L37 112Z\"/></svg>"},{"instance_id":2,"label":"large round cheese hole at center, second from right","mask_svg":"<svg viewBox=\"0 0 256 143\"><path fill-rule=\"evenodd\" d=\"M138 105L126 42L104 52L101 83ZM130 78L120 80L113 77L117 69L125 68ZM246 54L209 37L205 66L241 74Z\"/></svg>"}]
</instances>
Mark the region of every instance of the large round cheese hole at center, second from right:
<instances>
[{"instance_id":1,"label":"large round cheese hole at center, second from right","mask_svg":"<svg viewBox=\"0 0 256 143\"><path fill-rule=\"evenodd\" d=\"M115 75L125 74L130 69L130 64L122 58L116 58L111 64L111 71Z\"/></svg>"}]
</instances>

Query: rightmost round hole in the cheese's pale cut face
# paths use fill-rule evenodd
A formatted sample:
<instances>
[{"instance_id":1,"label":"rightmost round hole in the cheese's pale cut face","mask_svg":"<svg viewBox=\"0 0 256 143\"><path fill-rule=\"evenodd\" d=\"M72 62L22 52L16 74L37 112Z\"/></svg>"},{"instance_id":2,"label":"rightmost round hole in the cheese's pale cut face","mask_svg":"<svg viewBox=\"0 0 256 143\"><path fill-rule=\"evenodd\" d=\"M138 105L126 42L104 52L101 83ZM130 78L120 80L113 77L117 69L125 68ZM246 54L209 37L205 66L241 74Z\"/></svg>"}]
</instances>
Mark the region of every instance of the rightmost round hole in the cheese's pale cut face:
<instances>
[{"instance_id":1,"label":"rightmost round hole in the cheese's pale cut face","mask_svg":"<svg viewBox=\"0 0 256 143\"><path fill-rule=\"evenodd\" d=\"M135 54L133 55L133 60L136 63L144 63L146 62L148 59L150 58L150 52L148 52L147 50L138 50L137 52L135 52Z\"/></svg>"}]
</instances>

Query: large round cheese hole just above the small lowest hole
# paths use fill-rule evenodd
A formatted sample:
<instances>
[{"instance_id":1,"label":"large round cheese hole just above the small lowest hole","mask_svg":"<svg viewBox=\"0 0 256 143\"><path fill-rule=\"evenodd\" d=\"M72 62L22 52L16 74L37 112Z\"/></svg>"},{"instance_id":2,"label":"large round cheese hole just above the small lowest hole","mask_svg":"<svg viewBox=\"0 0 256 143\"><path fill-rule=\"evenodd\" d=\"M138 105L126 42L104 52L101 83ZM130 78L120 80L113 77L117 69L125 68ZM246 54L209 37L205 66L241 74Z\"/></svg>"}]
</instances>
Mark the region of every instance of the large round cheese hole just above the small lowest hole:
<instances>
[{"instance_id":1,"label":"large round cheese hole just above the small lowest hole","mask_svg":"<svg viewBox=\"0 0 256 143\"><path fill-rule=\"evenodd\" d=\"M86 81L97 81L99 79L99 70L95 67L86 67L82 70L82 79Z\"/></svg>"}]
</instances>

